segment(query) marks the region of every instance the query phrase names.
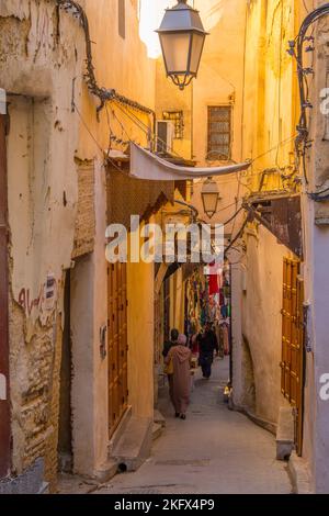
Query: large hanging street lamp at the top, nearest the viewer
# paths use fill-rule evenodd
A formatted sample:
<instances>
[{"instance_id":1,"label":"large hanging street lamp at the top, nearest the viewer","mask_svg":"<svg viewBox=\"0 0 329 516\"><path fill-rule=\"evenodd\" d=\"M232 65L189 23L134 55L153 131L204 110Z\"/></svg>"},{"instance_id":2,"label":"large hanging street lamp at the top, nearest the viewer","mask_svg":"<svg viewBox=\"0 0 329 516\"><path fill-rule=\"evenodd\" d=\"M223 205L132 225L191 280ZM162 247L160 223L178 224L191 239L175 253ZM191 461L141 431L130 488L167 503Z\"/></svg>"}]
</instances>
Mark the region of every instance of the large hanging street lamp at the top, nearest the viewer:
<instances>
[{"instance_id":1,"label":"large hanging street lamp at the top, nearest the viewer","mask_svg":"<svg viewBox=\"0 0 329 516\"><path fill-rule=\"evenodd\" d=\"M188 0L178 0L167 9L160 29L160 37L167 77L183 90L197 76L205 32L198 11L188 5Z\"/></svg>"}]
</instances>

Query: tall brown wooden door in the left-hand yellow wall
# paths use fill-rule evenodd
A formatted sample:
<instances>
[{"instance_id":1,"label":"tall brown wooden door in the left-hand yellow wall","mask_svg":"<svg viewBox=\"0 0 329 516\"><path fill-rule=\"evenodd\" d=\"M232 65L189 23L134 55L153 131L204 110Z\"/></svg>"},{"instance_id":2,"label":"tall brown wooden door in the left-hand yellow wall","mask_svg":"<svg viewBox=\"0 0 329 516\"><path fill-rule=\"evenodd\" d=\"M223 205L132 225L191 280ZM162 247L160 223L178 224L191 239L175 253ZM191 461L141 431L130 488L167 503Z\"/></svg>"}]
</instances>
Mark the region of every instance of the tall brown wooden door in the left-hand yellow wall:
<instances>
[{"instance_id":1,"label":"tall brown wooden door in the left-hand yellow wall","mask_svg":"<svg viewBox=\"0 0 329 516\"><path fill-rule=\"evenodd\" d=\"M127 266L110 265L109 273L109 422L110 437L128 406Z\"/></svg>"}]
</instances>

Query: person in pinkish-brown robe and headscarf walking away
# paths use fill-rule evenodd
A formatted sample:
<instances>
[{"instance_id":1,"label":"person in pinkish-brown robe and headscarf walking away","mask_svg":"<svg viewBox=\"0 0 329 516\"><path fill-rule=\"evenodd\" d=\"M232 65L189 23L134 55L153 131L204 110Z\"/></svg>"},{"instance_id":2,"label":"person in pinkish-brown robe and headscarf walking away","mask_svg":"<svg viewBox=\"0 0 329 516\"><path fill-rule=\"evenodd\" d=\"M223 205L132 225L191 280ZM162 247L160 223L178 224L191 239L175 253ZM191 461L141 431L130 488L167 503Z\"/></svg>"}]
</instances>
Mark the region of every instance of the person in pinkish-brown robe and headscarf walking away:
<instances>
[{"instance_id":1,"label":"person in pinkish-brown robe and headscarf walking away","mask_svg":"<svg viewBox=\"0 0 329 516\"><path fill-rule=\"evenodd\" d=\"M186 410L190 405L191 392L191 349L188 348L188 338L180 335L177 345L170 348L164 359L172 364L173 374L169 382L170 400L175 411L175 417L186 419Z\"/></svg>"}]
</instances>

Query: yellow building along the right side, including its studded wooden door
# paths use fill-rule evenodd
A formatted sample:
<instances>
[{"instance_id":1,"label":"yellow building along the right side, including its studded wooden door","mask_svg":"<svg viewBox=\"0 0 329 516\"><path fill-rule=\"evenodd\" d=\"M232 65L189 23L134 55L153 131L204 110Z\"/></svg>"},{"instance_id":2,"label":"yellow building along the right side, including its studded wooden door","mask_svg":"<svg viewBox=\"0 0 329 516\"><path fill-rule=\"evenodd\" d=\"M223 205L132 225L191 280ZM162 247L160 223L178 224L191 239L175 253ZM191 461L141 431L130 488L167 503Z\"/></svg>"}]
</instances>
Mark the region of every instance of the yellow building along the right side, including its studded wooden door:
<instances>
[{"instance_id":1,"label":"yellow building along the right side, including its studded wooden door","mask_svg":"<svg viewBox=\"0 0 329 516\"><path fill-rule=\"evenodd\" d=\"M304 75L314 76L313 83L307 77L307 106L299 98L296 60L287 51L306 15L322 4L249 2L242 146L252 159L246 200L258 216L245 231L245 259L234 266L235 292L240 291L234 402L247 405L262 423L274 423L277 436L285 407L293 411L299 459L293 453L292 471L300 492L318 493L328 492L328 408L319 394L328 369L322 312L328 306L322 269L327 217L326 202L309 192L324 189L327 180L327 119L320 105L328 18L314 33L309 27L314 40L304 42ZM299 154L295 142L303 109L309 137Z\"/></svg>"}]
</instances>

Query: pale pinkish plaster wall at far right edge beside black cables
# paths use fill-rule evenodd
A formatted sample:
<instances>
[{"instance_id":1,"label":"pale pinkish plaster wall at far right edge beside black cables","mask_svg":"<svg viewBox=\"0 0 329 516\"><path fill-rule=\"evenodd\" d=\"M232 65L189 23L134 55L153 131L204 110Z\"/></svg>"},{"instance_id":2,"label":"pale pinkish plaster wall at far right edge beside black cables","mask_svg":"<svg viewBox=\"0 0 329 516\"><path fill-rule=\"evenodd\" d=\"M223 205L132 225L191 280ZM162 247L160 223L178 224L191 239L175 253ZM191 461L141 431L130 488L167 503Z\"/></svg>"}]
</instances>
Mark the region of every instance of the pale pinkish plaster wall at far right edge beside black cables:
<instances>
[{"instance_id":1,"label":"pale pinkish plaster wall at far right edge beside black cables","mask_svg":"<svg viewBox=\"0 0 329 516\"><path fill-rule=\"evenodd\" d=\"M316 5L325 2L317 1ZM328 88L328 16L322 19L315 31L315 80L311 102L310 139L313 148L307 156L308 190L324 190L329 179L328 117L320 111L320 92ZM305 220L305 295L309 304L308 344L311 351L306 355L306 389L303 457L309 463L313 489L317 493L329 490L329 402L320 397L320 378L329 371L328 352L328 306L329 306L329 227L328 202L315 203L303 195Z\"/></svg>"}]
</instances>

